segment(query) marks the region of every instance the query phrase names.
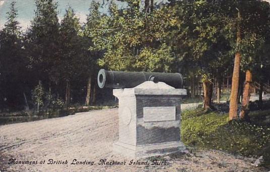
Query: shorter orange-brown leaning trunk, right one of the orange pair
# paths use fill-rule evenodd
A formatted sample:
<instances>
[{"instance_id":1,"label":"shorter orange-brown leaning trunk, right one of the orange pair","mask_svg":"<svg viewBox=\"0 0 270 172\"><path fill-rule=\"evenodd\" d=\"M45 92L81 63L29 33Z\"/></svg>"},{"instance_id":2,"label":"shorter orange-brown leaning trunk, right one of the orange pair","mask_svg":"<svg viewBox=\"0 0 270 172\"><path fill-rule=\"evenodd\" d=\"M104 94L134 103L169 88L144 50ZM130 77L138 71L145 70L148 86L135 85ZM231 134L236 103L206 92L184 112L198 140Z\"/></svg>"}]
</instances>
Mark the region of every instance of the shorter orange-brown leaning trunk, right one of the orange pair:
<instances>
[{"instance_id":1,"label":"shorter orange-brown leaning trunk, right one of the orange pair","mask_svg":"<svg viewBox=\"0 0 270 172\"><path fill-rule=\"evenodd\" d=\"M243 101L242 101L242 109L240 112L240 118L244 119L246 111L248 109L248 103L251 93L251 82L252 82L252 73L250 70L246 71L246 81L244 86L244 92L243 92Z\"/></svg>"}]
</instances>

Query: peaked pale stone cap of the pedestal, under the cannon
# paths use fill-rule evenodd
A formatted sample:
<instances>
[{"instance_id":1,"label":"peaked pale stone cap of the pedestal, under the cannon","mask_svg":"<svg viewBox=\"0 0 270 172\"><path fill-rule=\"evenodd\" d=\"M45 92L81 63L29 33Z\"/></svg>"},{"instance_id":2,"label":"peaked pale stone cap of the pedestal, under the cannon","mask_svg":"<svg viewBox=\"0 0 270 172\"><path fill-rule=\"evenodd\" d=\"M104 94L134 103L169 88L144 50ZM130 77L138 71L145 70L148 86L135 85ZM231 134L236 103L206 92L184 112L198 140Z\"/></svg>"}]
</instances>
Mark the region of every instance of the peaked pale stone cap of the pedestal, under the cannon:
<instances>
[{"instance_id":1,"label":"peaked pale stone cap of the pedestal, under the cannon","mask_svg":"<svg viewBox=\"0 0 270 172\"><path fill-rule=\"evenodd\" d=\"M134 88L114 89L113 95L186 95L186 89L175 89L164 82L146 81Z\"/></svg>"}]
</instances>

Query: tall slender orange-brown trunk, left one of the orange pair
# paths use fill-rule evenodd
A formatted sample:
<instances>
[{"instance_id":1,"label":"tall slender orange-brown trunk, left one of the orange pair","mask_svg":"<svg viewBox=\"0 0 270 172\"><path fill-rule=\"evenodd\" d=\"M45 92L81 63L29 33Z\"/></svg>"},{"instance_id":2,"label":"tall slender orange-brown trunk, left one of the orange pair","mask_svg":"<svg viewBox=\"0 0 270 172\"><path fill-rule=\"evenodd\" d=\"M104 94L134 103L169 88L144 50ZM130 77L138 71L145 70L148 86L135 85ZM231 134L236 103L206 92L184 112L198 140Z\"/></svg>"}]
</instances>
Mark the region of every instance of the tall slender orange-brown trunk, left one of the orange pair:
<instances>
[{"instance_id":1,"label":"tall slender orange-brown trunk, left one of the orange pair","mask_svg":"<svg viewBox=\"0 0 270 172\"><path fill-rule=\"evenodd\" d=\"M238 20L240 22L240 12L238 11ZM236 43L239 45L241 41L241 28L238 23L237 28L237 40ZM233 120L237 118L237 95L238 95L238 86L239 86L239 73L240 73L240 62L241 62L241 54L240 52L236 52L235 60L234 60L234 68L233 68L233 77L232 77L232 90L230 96L230 111L229 111L229 120Z\"/></svg>"}]
</instances>

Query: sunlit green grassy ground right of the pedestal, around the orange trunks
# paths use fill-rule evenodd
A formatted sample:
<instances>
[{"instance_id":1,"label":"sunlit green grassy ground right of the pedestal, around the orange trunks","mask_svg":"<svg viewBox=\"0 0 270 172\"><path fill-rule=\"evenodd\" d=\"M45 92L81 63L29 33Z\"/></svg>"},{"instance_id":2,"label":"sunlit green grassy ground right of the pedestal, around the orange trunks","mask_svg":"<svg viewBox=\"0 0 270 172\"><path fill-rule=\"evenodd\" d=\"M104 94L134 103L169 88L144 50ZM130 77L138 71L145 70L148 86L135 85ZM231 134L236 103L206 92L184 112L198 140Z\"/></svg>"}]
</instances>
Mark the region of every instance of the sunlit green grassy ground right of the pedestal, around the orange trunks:
<instances>
[{"instance_id":1,"label":"sunlit green grassy ground right of the pedestal, around the orange trunks","mask_svg":"<svg viewBox=\"0 0 270 172\"><path fill-rule=\"evenodd\" d=\"M228 122L228 113L204 111L201 108L182 113L181 137L186 145L224 150L248 157L263 155L270 167L270 125L261 123L270 110L250 113L251 123ZM262 125L263 124L263 125Z\"/></svg>"}]
</instances>

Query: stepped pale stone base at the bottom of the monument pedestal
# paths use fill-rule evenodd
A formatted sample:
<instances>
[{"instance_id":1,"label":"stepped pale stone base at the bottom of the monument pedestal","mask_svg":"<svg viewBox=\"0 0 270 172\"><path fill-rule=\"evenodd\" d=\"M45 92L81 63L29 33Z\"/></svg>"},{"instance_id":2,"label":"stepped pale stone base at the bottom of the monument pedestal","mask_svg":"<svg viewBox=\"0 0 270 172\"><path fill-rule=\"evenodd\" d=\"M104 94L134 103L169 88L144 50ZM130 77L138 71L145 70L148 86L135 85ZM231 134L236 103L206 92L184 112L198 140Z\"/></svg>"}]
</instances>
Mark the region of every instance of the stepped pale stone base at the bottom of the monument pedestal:
<instances>
[{"instance_id":1,"label":"stepped pale stone base at the bottom of the monument pedestal","mask_svg":"<svg viewBox=\"0 0 270 172\"><path fill-rule=\"evenodd\" d=\"M119 153L127 157L145 158L150 156L166 155L180 152L186 147L180 141L166 142L148 145L129 145L122 142L113 143L113 153Z\"/></svg>"}]
</instances>

